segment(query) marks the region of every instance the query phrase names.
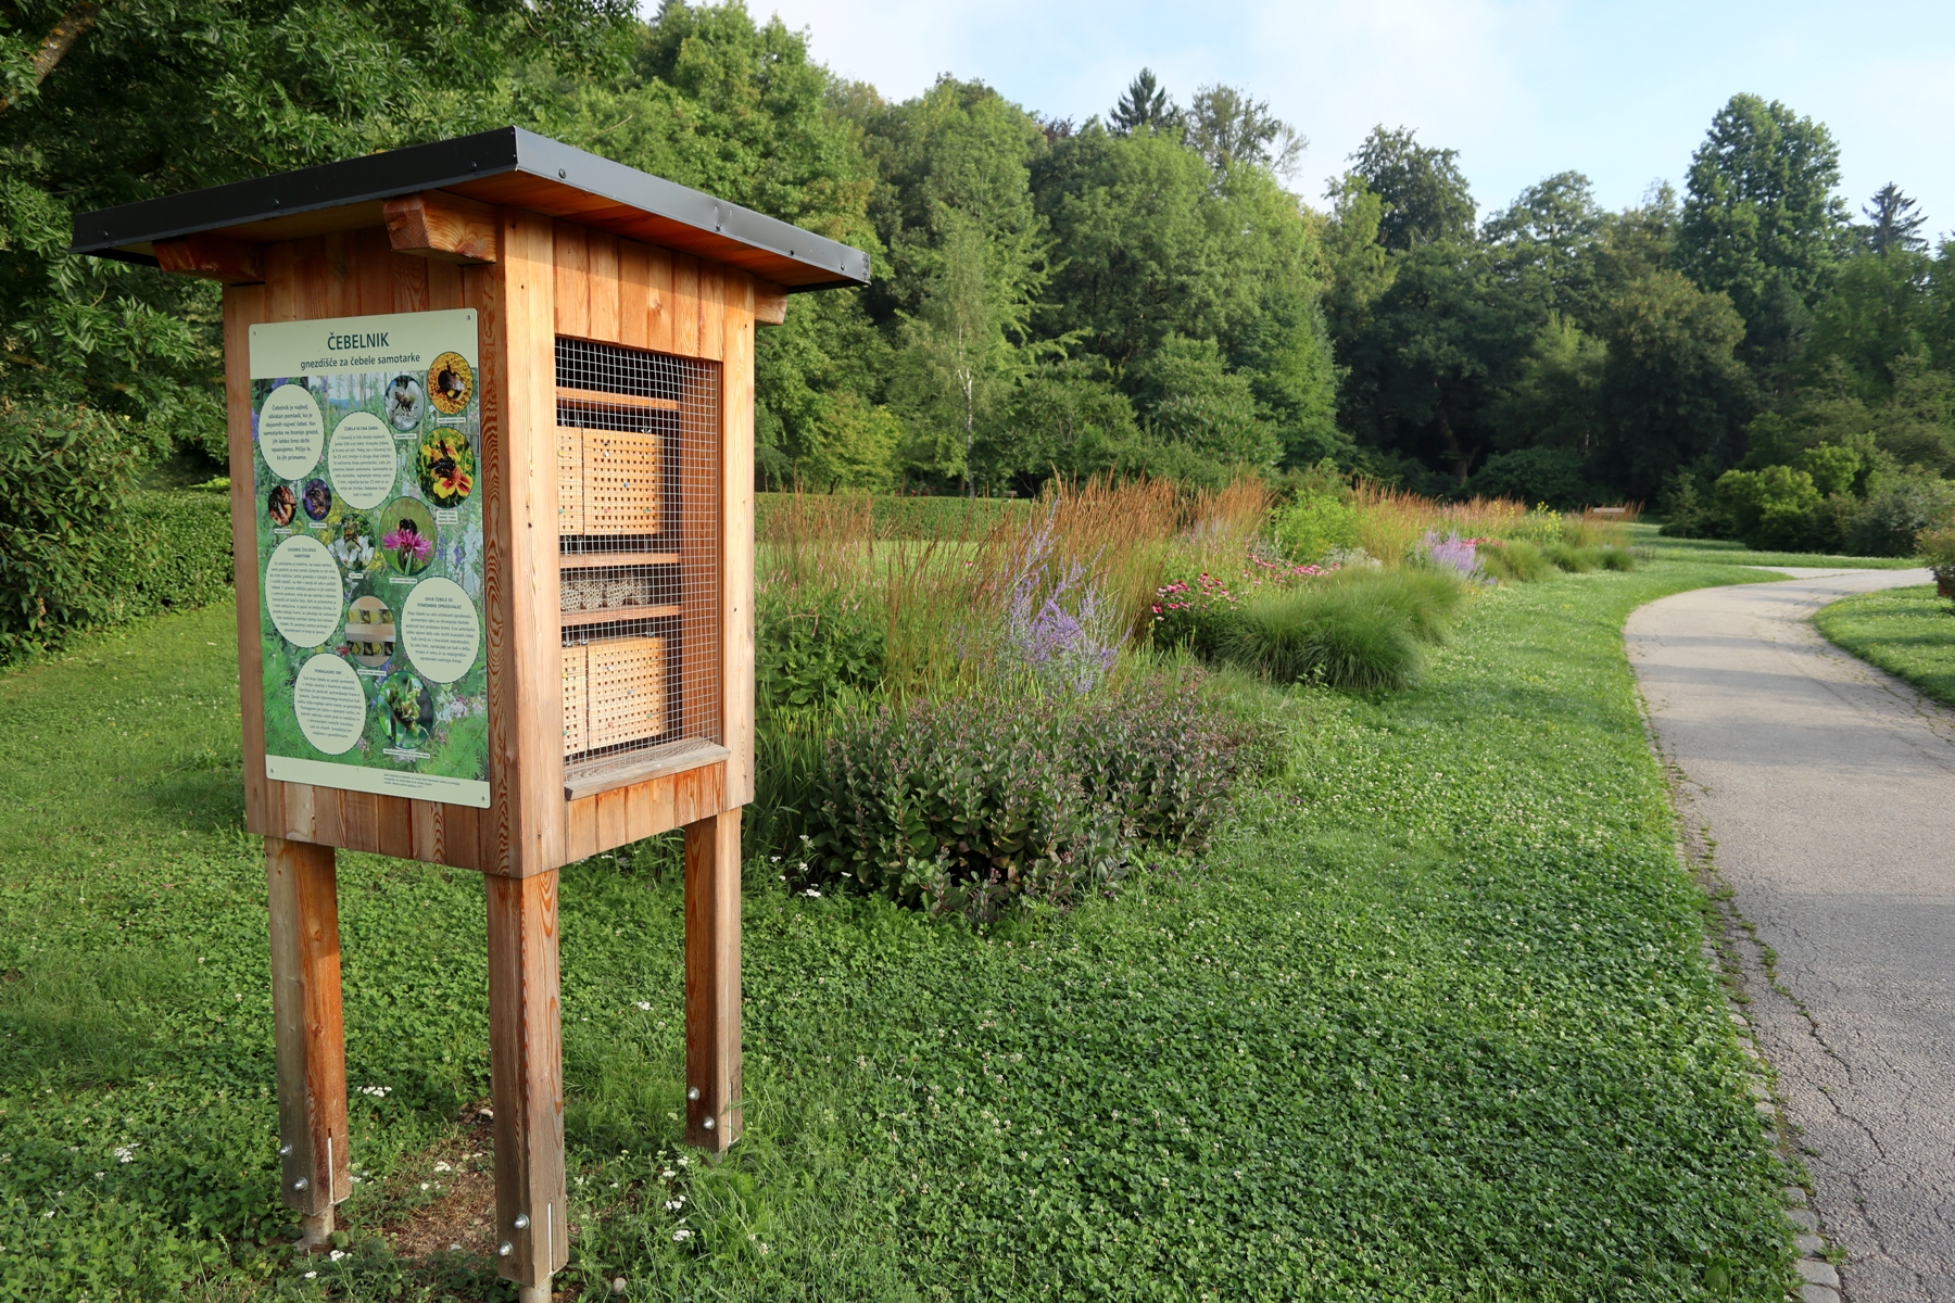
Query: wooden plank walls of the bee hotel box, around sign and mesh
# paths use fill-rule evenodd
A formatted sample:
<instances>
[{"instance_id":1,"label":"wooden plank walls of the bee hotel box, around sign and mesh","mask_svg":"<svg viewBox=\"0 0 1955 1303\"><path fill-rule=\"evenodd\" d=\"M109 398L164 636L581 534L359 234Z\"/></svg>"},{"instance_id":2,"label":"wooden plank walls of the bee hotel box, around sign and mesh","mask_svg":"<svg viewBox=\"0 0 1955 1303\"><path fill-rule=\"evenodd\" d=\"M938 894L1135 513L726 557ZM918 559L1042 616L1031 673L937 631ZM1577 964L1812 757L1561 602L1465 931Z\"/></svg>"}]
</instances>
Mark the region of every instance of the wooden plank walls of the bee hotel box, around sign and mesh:
<instances>
[{"instance_id":1,"label":"wooden plank walls of the bee hotel box, around sign and mesh","mask_svg":"<svg viewBox=\"0 0 1955 1303\"><path fill-rule=\"evenodd\" d=\"M551 221L497 213L497 262L461 266L397 254L373 225L262 250L264 283L225 287L225 391L237 531L239 688L244 805L252 832L530 875L698 822L753 799L753 356L755 315L778 293L725 264ZM248 330L315 320L473 307L481 326L485 615L489 623L491 789L487 811L264 778L262 596L254 525ZM694 561L688 613L719 619L721 738L731 756L579 801L563 799L555 684L555 363L553 334L721 363L719 492L686 522L717 535L717 572ZM706 432L700 432L706 434ZM491 506L502 504L502 506ZM532 690L522 692L518 684Z\"/></svg>"}]
</instances>

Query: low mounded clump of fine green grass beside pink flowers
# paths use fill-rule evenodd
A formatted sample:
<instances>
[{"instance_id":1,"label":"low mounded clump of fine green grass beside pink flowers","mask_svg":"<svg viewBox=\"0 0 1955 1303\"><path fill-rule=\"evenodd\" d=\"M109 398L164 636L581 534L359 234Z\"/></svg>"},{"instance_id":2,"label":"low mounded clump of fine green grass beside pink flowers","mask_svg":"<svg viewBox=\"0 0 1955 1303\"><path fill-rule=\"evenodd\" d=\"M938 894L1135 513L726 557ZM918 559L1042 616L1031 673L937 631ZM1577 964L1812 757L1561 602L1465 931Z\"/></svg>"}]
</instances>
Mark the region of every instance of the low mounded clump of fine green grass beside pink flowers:
<instances>
[{"instance_id":1,"label":"low mounded clump of fine green grass beside pink flowers","mask_svg":"<svg viewBox=\"0 0 1955 1303\"><path fill-rule=\"evenodd\" d=\"M1406 688L1423 664L1419 643L1445 641L1458 602L1458 580L1437 570L1349 570L1243 604L1216 654L1279 684Z\"/></svg>"}]
</instances>

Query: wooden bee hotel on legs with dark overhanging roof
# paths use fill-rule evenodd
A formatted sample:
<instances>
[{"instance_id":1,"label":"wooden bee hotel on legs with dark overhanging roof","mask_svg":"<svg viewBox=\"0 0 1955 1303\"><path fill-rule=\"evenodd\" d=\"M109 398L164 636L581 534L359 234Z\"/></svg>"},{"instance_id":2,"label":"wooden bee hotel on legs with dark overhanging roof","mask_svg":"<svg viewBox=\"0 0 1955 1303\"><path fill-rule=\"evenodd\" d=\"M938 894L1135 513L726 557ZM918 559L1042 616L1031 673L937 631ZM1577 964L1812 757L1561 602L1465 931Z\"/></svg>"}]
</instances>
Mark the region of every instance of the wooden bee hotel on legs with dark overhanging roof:
<instances>
[{"instance_id":1,"label":"wooden bee hotel on legs with dark overhanging roof","mask_svg":"<svg viewBox=\"0 0 1955 1303\"><path fill-rule=\"evenodd\" d=\"M866 254L518 129L151 199L225 283L283 1199L350 1192L334 848L483 873L502 1276L569 1260L557 869L684 828L686 1135L739 1133L755 328Z\"/></svg>"}]
</instances>

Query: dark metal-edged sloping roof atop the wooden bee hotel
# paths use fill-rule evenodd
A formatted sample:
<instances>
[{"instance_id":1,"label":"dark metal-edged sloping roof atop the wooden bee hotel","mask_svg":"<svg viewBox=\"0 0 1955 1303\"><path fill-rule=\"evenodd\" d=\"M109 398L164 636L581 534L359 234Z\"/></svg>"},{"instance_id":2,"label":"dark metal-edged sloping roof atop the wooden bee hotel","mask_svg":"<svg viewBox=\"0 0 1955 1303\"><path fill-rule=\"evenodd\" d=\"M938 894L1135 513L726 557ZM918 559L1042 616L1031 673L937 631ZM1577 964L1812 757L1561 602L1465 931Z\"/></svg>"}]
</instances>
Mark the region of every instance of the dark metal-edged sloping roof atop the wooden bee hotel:
<instances>
[{"instance_id":1,"label":"dark metal-edged sloping roof atop the wooden bee hotel","mask_svg":"<svg viewBox=\"0 0 1955 1303\"><path fill-rule=\"evenodd\" d=\"M154 264L151 244L221 231L276 240L313 234L307 213L422 189L510 203L747 268L782 287L866 285L868 254L522 127L280 172L74 219L76 254Z\"/></svg>"}]
</instances>

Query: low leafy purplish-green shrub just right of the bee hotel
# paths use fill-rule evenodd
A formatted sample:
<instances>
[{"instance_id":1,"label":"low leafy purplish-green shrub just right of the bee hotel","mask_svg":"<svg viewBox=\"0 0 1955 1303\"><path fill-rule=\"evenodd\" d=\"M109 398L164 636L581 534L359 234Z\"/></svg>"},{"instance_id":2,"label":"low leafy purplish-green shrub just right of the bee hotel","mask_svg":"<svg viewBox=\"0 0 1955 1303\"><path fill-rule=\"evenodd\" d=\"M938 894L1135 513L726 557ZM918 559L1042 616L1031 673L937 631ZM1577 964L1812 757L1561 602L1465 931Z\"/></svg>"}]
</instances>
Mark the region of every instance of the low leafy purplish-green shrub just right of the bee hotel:
<instances>
[{"instance_id":1,"label":"low leafy purplish-green shrub just right of the bee hotel","mask_svg":"<svg viewBox=\"0 0 1955 1303\"><path fill-rule=\"evenodd\" d=\"M931 914L1107 891L1146 850L1198 854L1249 735L1187 686L884 705L829 736L790 889Z\"/></svg>"}]
</instances>

